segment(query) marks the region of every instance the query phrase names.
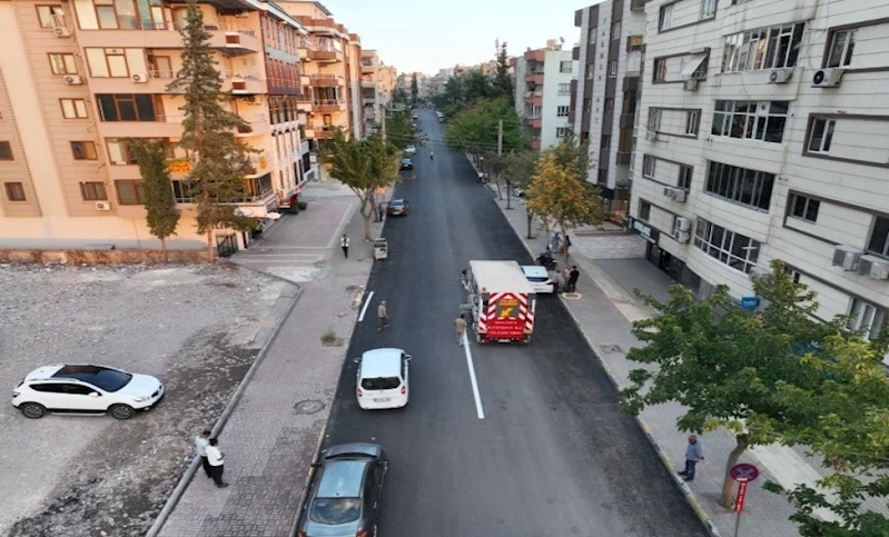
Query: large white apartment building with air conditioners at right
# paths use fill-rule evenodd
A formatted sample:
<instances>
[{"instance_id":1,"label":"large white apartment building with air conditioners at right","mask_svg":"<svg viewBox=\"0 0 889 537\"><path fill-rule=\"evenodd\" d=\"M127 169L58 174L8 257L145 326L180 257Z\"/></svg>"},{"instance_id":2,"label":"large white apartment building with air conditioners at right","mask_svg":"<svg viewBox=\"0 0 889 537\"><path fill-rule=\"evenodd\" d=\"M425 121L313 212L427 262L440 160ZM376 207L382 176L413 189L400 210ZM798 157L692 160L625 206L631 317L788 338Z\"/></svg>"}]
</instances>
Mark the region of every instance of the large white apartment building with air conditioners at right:
<instances>
[{"instance_id":1,"label":"large white apartment building with air conditioners at right","mask_svg":"<svg viewBox=\"0 0 889 537\"><path fill-rule=\"evenodd\" d=\"M784 260L873 338L889 309L889 4L645 4L631 215L699 295Z\"/></svg>"}]
</instances>

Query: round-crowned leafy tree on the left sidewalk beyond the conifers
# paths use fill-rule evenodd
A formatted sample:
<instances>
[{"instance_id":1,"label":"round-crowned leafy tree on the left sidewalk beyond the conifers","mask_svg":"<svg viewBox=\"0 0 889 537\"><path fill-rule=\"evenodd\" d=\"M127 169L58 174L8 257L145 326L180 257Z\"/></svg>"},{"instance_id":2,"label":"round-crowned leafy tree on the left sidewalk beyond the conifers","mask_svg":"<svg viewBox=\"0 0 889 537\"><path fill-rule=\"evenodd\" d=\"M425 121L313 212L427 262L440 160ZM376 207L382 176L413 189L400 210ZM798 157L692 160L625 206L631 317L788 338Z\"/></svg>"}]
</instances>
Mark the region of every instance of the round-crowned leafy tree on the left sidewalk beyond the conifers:
<instances>
[{"instance_id":1,"label":"round-crowned leafy tree on the left sidewalk beyond the conifers","mask_svg":"<svg viewBox=\"0 0 889 537\"><path fill-rule=\"evenodd\" d=\"M399 156L398 148L379 135L371 135L364 140L347 139L342 129L337 129L322 147L320 158L328 173L352 189L360 201L364 238L367 240L373 239L371 219L376 212L377 189L399 180Z\"/></svg>"}]
</instances>

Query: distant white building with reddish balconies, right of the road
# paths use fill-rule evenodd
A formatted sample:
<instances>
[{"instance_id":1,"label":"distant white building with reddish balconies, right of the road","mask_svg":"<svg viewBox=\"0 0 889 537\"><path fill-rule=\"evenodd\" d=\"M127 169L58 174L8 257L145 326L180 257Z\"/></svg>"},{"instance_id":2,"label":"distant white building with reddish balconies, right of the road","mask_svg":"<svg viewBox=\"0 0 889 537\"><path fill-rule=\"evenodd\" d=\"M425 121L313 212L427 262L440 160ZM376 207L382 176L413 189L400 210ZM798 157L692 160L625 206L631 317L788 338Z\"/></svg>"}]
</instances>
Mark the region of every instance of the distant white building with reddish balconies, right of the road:
<instances>
[{"instance_id":1,"label":"distant white building with reddish balconies, right of the road","mask_svg":"<svg viewBox=\"0 0 889 537\"><path fill-rule=\"evenodd\" d=\"M524 118L533 149L546 149L571 133L571 82L577 61L571 50L550 39L543 49L529 50L513 60L515 111Z\"/></svg>"}]
</instances>

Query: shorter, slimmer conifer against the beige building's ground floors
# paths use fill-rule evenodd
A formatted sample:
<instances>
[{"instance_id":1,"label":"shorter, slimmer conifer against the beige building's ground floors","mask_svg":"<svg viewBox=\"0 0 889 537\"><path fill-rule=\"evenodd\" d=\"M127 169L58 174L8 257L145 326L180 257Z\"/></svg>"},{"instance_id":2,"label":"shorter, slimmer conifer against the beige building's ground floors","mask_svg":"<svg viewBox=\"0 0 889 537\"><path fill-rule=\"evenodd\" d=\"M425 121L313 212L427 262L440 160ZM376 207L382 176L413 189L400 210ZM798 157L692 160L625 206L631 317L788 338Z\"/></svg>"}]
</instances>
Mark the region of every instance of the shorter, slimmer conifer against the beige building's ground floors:
<instances>
[{"instance_id":1,"label":"shorter, slimmer conifer against the beige building's ground floors","mask_svg":"<svg viewBox=\"0 0 889 537\"><path fill-rule=\"evenodd\" d=\"M162 141L146 143L139 139L128 139L139 173L142 176L141 191L146 210L146 223L151 235L160 239L164 260L167 261L167 239L176 235L179 225L179 210L172 197L170 173L167 170L167 155Z\"/></svg>"}]
</instances>

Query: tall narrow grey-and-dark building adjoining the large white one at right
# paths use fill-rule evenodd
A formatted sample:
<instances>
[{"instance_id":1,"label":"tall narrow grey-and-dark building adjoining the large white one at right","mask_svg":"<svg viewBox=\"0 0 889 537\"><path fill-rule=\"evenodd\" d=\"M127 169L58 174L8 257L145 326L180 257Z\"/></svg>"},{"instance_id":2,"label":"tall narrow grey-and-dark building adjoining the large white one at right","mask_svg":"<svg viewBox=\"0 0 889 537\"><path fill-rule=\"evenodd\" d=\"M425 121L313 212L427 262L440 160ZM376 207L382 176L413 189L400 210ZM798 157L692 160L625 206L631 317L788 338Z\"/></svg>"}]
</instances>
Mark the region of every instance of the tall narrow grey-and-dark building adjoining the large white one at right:
<instances>
[{"instance_id":1,"label":"tall narrow grey-and-dark building adjoining the large white one at right","mask_svg":"<svg viewBox=\"0 0 889 537\"><path fill-rule=\"evenodd\" d=\"M574 59L572 126L589 143L587 180L599 185L610 219L623 221L630 203L630 156L639 100L644 1L608 0L574 12L581 29Z\"/></svg>"}]
</instances>

